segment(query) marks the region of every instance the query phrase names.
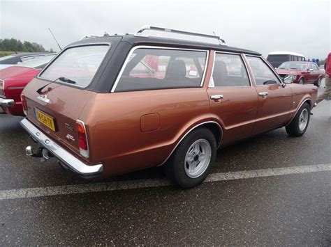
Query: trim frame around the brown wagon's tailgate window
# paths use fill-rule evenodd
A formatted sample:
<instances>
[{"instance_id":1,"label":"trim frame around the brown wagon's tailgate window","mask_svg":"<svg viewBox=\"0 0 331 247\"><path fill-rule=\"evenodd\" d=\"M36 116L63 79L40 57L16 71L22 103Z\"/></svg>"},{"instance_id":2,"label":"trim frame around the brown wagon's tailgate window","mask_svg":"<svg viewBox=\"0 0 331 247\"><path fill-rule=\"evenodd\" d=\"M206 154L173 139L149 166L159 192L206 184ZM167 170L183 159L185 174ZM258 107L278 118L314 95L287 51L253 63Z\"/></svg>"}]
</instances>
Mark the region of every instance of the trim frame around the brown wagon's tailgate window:
<instances>
[{"instance_id":1,"label":"trim frame around the brown wagon's tailgate window","mask_svg":"<svg viewBox=\"0 0 331 247\"><path fill-rule=\"evenodd\" d=\"M93 46L93 45L108 45L108 50L106 51L105 53L105 56L103 57L103 60L101 61L100 65L103 63L103 61L105 60L105 57L107 56L107 53L109 52L109 49L110 49L110 42L94 42L94 43L86 43L86 44L80 44L80 45L70 45L68 47L64 47L64 49L62 49L59 54L57 54L57 56L54 56L54 58L50 61L50 63L48 63L44 68L43 70L41 70L41 72L39 72L39 74L37 75L37 78L38 79L41 79L41 80L45 80L45 81L53 81L52 79L48 79L48 78L45 78L45 77L41 77L41 74L43 74L43 72L45 70L47 70L47 67L50 67L50 65L57 59L58 56L60 56L62 53L64 53L64 51L66 51L67 49L71 49L71 48L75 48L75 47L87 47L87 46ZM100 69L100 65L98 67L98 70ZM96 77L96 74L98 74L98 70L96 70L96 73L94 74L94 77ZM56 80L56 83L59 83L59 84L62 84L62 85L66 85L66 86L72 86L73 88L87 88L91 82L94 80L94 77L92 77L91 81L89 82L89 84L87 86L78 86L78 85L75 85L75 84L71 84L71 83L65 83L65 82L61 82L61 81L57 81ZM55 81L54 81L55 83Z\"/></svg>"}]
</instances>

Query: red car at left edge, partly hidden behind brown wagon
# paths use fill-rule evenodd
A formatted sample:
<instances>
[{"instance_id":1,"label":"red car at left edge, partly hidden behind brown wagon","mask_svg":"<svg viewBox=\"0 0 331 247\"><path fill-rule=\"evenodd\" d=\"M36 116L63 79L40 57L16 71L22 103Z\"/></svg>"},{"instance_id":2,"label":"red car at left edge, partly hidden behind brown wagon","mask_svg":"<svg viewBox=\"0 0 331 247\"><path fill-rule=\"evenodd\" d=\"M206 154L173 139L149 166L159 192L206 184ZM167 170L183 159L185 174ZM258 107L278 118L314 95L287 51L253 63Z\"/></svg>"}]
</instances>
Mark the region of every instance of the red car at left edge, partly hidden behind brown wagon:
<instances>
[{"instance_id":1,"label":"red car at left edge, partly hidden behind brown wagon","mask_svg":"<svg viewBox=\"0 0 331 247\"><path fill-rule=\"evenodd\" d=\"M50 54L0 70L0 112L24 115L20 98L22 90L54 56Z\"/></svg>"}]
</instances>

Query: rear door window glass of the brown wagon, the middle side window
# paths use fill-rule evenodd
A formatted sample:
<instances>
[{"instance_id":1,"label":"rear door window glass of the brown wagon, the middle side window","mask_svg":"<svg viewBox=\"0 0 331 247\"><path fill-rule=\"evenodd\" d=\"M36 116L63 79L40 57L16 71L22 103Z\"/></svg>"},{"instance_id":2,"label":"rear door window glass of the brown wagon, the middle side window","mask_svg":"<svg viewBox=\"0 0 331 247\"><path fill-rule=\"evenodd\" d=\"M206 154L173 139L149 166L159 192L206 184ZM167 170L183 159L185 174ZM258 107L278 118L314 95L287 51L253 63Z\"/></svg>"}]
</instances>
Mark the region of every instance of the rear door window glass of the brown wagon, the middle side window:
<instances>
[{"instance_id":1,"label":"rear door window glass of the brown wagon, the middle side window","mask_svg":"<svg viewBox=\"0 0 331 247\"><path fill-rule=\"evenodd\" d=\"M209 86L250 86L247 70L240 55L216 53Z\"/></svg>"}]
</instances>

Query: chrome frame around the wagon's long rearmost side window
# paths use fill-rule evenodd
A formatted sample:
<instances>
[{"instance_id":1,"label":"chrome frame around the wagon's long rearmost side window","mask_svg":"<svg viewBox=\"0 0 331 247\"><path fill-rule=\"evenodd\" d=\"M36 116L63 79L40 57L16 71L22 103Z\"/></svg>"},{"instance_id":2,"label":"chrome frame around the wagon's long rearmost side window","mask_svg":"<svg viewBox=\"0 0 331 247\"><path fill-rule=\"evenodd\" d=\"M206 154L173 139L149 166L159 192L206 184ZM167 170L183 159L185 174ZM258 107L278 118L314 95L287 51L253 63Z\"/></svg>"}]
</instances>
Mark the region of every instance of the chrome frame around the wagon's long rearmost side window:
<instances>
[{"instance_id":1,"label":"chrome frame around the wagon's long rearmost side window","mask_svg":"<svg viewBox=\"0 0 331 247\"><path fill-rule=\"evenodd\" d=\"M209 50L207 50L207 49L185 49L185 48L175 48L175 47L160 47L160 46L152 46L152 45L138 45L138 46L133 47L131 49L131 51L128 53L128 56L126 56L124 64L122 65L121 70L119 70L119 74L116 78L114 86L112 86L112 90L110 90L111 93L115 92L117 84L119 83L119 79L121 79L122 74L124 72L124 69L125 69L126 65L128 64L128 62L130 61L130 58L131 58L131 55L133 54L133 52L136 49L148 49L148 48L152 48L152 49L171 49L171 50L179 50L179 51L204 51L204 52L206 52L207 53L206 63L205 63L204 71L203 71L203 77L201 78L201 83L200 83L200 87L203 86L203 82L205 81L206 70L207 70L207 67L208 67ZM191 87L183 87L183 88L191 88ZM171 89L171 88L161 88L161 89L155 89L155 90L164 90L164 89ZM144 91L144 90L142 90L142 91ZM130 92L130 91L128 91L128 92Z\"/></svg>"}]
</instances>

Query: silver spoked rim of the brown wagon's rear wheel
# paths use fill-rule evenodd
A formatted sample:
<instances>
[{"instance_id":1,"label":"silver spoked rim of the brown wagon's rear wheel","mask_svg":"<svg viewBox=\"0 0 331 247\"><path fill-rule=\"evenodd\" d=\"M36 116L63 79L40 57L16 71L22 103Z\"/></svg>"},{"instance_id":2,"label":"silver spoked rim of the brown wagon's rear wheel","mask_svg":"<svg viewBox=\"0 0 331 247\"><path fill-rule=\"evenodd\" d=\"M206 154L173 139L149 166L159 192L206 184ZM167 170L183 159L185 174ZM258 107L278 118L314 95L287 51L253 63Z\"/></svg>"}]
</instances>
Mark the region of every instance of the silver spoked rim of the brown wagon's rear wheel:
<instances>
[{"instance_id":1,"label":"silver spoked rim of the brown wagon's rear wheel","mask_svg":"<svg viewBox=\"0 0 331 247\"><path fill-rule=\"evenodd\" d=\"M185 155L185 172L191 178L200 177L212 159L212 147L205 139L195 141Z\"/></svg>"}]
</instances>

